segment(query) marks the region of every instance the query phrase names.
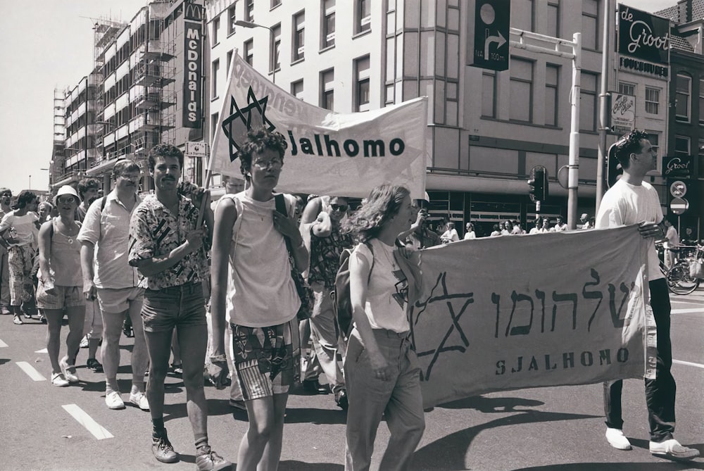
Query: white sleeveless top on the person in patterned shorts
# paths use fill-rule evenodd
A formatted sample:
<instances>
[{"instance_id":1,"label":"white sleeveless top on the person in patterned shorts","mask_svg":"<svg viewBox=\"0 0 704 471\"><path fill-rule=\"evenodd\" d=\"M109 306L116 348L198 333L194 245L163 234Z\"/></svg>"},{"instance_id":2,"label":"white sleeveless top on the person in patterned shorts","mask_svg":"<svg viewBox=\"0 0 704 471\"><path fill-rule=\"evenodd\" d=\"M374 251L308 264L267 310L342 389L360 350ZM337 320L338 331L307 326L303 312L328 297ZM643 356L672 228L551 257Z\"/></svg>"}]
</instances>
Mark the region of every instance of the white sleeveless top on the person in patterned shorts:
<instances>
[{"instance_id":1,"label":"white sleeveless top on the person in patterned shorts","mask_svg":"<svg viewBox=\"0 0 704 471\"><path fill-rule=\"evenodd\" d=\"M287 212L293 214L294 197L284 197ZM247 327L288 322L298 312L301 299L291 278L284 236L274 227L275 201L256 201L244 191L234 198L241 201L242 211L230 244L227 321Z\"/></svg>"}]
</instances>

